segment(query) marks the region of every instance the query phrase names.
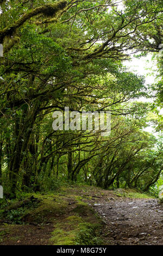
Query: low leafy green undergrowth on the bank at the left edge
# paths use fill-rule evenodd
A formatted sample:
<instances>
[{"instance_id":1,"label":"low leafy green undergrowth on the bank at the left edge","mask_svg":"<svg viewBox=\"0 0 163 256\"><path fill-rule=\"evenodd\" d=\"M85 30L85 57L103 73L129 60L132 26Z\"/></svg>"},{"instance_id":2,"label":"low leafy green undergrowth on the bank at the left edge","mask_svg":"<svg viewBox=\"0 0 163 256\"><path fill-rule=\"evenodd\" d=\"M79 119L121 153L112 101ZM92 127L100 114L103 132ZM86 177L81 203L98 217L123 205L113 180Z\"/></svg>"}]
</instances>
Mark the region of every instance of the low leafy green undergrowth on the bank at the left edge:
<instances>
[{"instance_id":1,"label":"low leafy green undergrowth on the bank at the left edge","mask_svg":"<svg viewBox=\"0 0 163 256\"><path fill-rule=\"evenodd\" d=\"M27 194L22 200L3 202L0 207L0 218L1 222L10 224L47 223L55 215L64 214L67 204L64 197L58 194Z\"/></svg>"}]
</instances>

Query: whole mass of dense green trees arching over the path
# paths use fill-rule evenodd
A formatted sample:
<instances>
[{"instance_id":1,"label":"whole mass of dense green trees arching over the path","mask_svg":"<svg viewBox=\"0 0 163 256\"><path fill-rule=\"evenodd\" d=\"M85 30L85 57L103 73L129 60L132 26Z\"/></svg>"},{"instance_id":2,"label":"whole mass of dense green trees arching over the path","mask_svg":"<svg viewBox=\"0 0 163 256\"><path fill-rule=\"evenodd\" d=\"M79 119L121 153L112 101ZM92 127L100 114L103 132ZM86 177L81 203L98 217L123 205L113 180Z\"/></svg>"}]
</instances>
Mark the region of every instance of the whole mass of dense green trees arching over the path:
<instances>
[{"instance_id":1,"label":"whole mass of dense green trees arching over the path","mask_svg":"<svg viewBox=\"0 0 163 256\"><path fill-rule=\"evenodd\" d=\"M0 7L5 195L54 190L63 180L148 191L163 169L162 1L4 0ZM149 85L123 63L148 53L159 74ZM110 135L54 131L52 114L65 106L110 112ZM149 121L160 136L144 130Z\"/></svg>"}]
</instances>

